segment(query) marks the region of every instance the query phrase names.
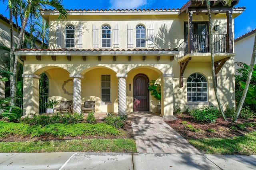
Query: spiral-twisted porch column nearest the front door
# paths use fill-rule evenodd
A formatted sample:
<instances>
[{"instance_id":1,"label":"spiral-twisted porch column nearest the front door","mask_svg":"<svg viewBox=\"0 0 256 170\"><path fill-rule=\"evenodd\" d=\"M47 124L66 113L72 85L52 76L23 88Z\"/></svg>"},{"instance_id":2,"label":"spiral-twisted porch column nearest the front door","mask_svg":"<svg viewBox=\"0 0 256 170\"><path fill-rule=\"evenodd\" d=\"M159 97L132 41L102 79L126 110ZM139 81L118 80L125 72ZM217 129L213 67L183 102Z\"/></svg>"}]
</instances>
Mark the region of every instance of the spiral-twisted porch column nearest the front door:
<instances>
[{"instance_id":1,"label":"spiral-twisted porch column nearest the front door","mask_svg":"<svg viewBox=\"0 0 256 170\"><path fill-rule=\"evenodd\" d=\"M116 74L116 77L118 77L118 115L125 115L127 74Z\"/></svg>"}]
</instances>

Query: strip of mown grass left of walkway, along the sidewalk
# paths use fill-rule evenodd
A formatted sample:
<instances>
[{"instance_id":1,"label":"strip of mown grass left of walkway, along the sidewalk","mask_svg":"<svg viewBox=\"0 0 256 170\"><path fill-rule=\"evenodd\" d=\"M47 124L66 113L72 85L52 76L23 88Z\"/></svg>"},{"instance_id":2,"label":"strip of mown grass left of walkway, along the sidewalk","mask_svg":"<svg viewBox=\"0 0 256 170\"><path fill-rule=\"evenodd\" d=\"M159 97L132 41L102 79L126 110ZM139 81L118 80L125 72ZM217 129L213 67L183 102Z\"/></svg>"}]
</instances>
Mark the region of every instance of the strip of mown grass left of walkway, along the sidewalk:
<instances>
[{"instance_id":1,"label":"strip of mown grass left of walkway, along the sidewalk","mask_svg":"<svg viewBox=\"0 0 256 170\"><path fill-rule=\"evenodd\" d=\"M136 152L134 139L74 139L0 142L0 152Z\"/></svg>"}]
</instances>

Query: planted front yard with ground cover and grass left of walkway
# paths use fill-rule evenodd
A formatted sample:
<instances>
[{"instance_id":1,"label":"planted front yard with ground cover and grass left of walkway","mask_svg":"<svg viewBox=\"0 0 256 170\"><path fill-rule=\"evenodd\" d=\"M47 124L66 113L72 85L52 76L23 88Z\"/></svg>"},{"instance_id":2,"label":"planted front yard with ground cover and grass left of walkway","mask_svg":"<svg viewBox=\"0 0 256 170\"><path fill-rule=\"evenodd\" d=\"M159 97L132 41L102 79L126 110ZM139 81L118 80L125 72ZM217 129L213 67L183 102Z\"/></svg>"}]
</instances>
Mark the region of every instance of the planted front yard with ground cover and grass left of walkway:
<instances>
[{"instance_id":1,"label":"planted front yard with ground cover and grass left of walkway","mask_svg":"<svg viewBox=\"0 0 256 170\"><path fill-rule=\"evenodd\" d=\"M136 152L136 144L125 119L116 128L93 113L67 113L0 121L0 152Z\"/></svg>"}]
</instances>

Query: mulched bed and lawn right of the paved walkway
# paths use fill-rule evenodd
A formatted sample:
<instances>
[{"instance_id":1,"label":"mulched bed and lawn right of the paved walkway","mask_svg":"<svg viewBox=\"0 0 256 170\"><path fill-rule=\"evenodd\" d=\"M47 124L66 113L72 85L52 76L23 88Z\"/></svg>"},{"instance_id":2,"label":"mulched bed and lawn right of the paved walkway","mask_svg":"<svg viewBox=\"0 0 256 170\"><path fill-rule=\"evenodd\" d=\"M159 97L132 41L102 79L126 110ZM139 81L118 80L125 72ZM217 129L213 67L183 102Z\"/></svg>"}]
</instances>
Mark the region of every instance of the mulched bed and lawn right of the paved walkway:
<instances>
[{"instance_id":1,"label":"mulched bed and lawn right of the paved walkway","mask_svg":"<svg viewBox=\"0 0 256 170\"><path fill-rule=\"evenodd\" d=\"M182 114L174 114L174 116L178 118L177 120L168 121L166 123L202 153L255 155L255 113L246 111L245 108L240 118L235 123L232 122L232 117L235 114L234 110L227 110L229 111L228 121L224 121L220 118L220 115L216 117L215 122L198 121L190 113L183 112ZM208 114L212 114L212 111L208 112L206 115ZM202 117L204 117L204 115ZM248 119L245 119L245 117Z\"/></svg>"}]
</instances>

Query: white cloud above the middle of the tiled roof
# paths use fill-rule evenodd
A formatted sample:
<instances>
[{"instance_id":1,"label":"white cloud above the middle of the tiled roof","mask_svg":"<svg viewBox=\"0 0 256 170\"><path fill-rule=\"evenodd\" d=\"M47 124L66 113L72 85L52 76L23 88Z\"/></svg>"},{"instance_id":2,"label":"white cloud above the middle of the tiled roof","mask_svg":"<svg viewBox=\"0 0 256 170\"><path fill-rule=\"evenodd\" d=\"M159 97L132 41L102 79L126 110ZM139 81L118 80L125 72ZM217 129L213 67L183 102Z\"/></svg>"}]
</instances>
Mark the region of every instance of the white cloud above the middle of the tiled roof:
<instances>
[{"instance_id":1,"label":"white cloud above the middle of the tiled roof","mask_svg":"<svg viewBox=\"0 0 256 170\"><path fill-rule=\"evenodd\" d=\"M138 9L147 4L147 0L110 0L111 9Z\"/></svg>"}]
</instances>

